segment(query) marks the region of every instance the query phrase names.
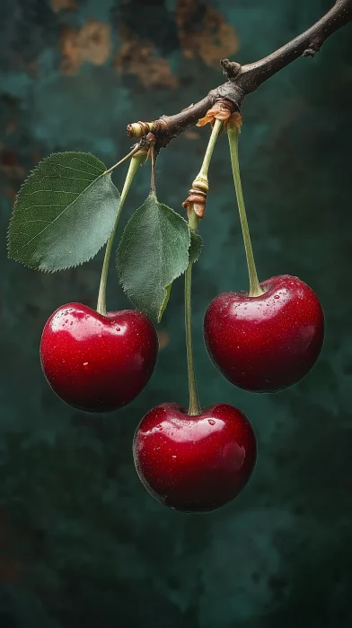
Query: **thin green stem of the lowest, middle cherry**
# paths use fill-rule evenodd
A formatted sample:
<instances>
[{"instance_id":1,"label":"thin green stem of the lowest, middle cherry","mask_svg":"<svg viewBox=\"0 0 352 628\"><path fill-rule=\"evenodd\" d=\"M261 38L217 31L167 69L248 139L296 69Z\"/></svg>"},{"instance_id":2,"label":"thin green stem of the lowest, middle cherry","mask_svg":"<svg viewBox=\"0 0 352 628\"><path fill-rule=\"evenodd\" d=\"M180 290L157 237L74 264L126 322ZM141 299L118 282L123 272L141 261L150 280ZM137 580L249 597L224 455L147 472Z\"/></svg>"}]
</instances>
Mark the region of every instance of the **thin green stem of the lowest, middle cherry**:
<instances>
[{"instance_id":1,"label":"thin green stem of the lowest, middle cherry","mask_svg":"<svg viewBox=\"0 0 352 628\"><path fill-rule=\"evenodd\" d=\"M198 216L193 209L189 212L189 229L197 231ZM191 325L191 286L192 286L192 263L189 262L185 273L185 327L186 327L186 347L187 347L187 368L189 373L189 416L197 416L201 409L199 406L196 376L194 372L194 358L192 345L192 325Z\"/></svg>"}]
</instances>

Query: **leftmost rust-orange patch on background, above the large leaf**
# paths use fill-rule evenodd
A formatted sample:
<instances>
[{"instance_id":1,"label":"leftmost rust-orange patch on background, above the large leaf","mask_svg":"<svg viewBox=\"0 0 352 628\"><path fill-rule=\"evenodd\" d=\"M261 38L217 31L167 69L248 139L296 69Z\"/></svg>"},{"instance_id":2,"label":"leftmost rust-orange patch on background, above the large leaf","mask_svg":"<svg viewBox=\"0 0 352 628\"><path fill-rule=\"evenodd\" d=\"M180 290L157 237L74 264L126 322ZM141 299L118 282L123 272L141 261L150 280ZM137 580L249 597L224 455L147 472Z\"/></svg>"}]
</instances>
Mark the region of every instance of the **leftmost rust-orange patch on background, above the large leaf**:
<instances>
[{"instance_id":1,"label":"leftmost rust-orange patch on background, above the large leaf","mask_svg":"<svg viewBox=\"0 0 352 628\"><path fill-rule=\"evenodd\" d=\"M103 65L111 54L110 26L88 20L81 29L64 26L60 38L61 73L75 76L84 63Z\"/></svg>"}]
</instances>

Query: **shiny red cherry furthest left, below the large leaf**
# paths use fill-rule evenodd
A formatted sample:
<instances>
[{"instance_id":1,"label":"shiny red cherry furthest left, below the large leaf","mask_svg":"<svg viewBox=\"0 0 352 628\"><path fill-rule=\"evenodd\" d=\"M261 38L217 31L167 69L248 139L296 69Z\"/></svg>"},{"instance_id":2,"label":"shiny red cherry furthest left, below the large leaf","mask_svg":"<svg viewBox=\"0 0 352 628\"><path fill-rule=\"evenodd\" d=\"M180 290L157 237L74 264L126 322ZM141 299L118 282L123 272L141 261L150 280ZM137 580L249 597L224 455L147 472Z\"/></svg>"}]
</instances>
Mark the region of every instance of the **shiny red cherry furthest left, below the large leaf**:
<instances>
[{"instance_id":1,"label":"shiny red cherry furthest left, below the large leaf","mask_svg":"<svg viewBox=\"0 0 352 628\"><path fill-rule=\"evenodd\" d=\"M105 317L81 303L58 308L40 342L48 384L85 412L126 406L151 378L157 352L154 326L144 314L121 310Z\"/></svg>"}]
</instances>

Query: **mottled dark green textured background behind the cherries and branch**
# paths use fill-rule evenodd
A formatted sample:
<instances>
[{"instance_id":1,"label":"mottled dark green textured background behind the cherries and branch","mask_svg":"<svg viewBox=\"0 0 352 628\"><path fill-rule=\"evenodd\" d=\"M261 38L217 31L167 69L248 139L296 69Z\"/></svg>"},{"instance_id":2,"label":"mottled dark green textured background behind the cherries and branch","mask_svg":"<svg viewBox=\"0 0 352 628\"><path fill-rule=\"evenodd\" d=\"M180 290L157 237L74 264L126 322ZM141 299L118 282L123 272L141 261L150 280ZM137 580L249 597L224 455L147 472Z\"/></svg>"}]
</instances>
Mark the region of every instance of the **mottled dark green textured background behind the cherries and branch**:
<instances>
[{"instance_id":1,"label":"mottled dark green textured background behind the cherries and branch","mask_svg":"<svg viewBox=\"0 0 352 628\"><path fill-rule=\"evenodd\" d=\"M145 412L187 403L182 282L160 326L165 346L149 387L123 412L91 416L50 391L39 343L59 305L94 305L101 255L40 275L5 250L13 195L41 157L83 150L110 165L128 151L128 122L188 106L222 81L217 57L256 60L330 4L1 0L1 628L352 624L351 26L242 109L242 179L260 279L299 275L327 321L316 367L273 396L233 388L202 342L207 303L247 287L225 137L216 147L194 277L199 393L204 406L240 406L259 440L255 475L231 505L205 516L167 510L133 467L131 440ZM158 161L159 197L177 210L207 142L207 128L196 133ZM144 200L147 179L145 169L122 222ZM128 305L112 269L109 304Z\"/></svg>"}]
</instances>

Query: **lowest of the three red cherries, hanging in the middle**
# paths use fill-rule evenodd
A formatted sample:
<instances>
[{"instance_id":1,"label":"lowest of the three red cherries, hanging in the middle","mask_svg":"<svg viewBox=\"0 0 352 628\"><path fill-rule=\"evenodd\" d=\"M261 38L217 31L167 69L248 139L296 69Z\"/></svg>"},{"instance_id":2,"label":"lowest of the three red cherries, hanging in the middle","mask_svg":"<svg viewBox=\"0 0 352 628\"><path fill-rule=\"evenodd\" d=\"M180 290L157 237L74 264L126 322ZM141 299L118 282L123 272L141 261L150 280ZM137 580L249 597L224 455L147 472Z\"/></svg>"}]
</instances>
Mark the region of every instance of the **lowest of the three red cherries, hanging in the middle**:
<instances>
[{"instance_id":1,"label":"lowest of the three red cherries, hanging in the middle","mask_svg":"<svg viewBox=\"0 0 352 628\"><path fill-rule=\"evenodd\" d=\"M231 502L256 462L256 438L233 406L216 404L198 416L163 404L139 423L133 442L136 472L153 497L175 510L209 512Z\"/></svg>"}]
</instances>

